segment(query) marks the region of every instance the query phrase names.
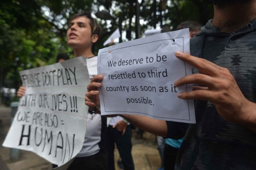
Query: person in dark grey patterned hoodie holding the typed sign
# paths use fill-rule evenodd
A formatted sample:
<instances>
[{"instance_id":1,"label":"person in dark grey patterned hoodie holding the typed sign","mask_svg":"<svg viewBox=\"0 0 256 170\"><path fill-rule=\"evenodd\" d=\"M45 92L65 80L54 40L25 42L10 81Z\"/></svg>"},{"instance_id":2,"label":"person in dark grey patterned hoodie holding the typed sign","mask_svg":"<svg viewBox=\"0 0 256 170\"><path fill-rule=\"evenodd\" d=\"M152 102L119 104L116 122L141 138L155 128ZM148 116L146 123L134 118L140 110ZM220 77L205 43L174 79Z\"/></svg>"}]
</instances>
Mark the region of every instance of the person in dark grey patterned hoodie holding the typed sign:
<instances>
[{"instance_id":1,"label":"person in dark grey patterned hoodie holding the typed sign","mask_svg":"<svg viewBox=\"0 0 256 170\"><path fill-rule=\"evenodd\" d=\"M179 139L183 132L175 170L255 170L256 0L213 3L214 18L191 39L191 55L175 53L194 67L174 85L197 84L178 94L194 99L196 124L178 128L176 122L121 116L155 135ZM102 78L94 76L87 87L87 98L98 106L95 82Z\"/></svg>"}]
</instances>

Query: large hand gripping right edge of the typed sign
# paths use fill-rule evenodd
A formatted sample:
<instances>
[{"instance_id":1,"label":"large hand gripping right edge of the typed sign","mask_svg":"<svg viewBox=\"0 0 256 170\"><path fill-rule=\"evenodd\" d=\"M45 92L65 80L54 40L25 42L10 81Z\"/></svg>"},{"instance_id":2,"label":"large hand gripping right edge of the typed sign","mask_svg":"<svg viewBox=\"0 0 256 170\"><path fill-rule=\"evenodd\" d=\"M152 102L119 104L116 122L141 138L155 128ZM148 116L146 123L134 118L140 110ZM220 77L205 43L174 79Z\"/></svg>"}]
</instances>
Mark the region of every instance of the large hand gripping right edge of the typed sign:
<instances>
[{"instance_id":1,"label":"large hand gripping right edge of the typed sign","mask_svg":"<svg viewBox=\"0 0 256 170\"><path fill-rule=\"evenodd\" d=\"M207 86L197 87L193 92L179 93L179 98L210 101L223 119L242 124L256 131L255 123L251 122L255 119L252 118L251 111L255 110L256 105L245 98L235 78L227 68L219 67L208 60L182 52L176 52L175 55L178 59L189 63L202 73L185 76L174 83L176 86L186 84Z\"/></svg>"}]
</instances>

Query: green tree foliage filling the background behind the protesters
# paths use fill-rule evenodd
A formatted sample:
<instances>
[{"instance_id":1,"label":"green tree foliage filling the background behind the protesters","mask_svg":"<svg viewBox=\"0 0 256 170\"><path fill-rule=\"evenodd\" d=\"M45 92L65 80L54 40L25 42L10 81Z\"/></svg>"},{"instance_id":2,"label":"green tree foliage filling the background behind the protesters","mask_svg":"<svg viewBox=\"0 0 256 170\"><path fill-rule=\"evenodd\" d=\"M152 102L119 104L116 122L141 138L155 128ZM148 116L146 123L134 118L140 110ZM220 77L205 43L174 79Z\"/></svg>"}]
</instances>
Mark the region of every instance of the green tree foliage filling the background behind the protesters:
<instances>
[{"instance_id":1,"label":"green tree foliage filling the background behind the protesters","mask_svg":"<svg viewBox=\"0 0 256 170\"><path fill-rule=\"evenodd\" d=\"M94 54L117 28L131 33L120 41L135 38L137 0L5 0L0 5L0 86L21 84L18 71L55 63L59 52L73 57L66 44L68 19L83 11L105 10L112 20L97 18L103 28ZM169 25L173 30L183 21L204 25L213 17L211 0L139 0L140 26L146 29ZM10 82L10 83L8 83Z\"/></svg>"}]
</instances>

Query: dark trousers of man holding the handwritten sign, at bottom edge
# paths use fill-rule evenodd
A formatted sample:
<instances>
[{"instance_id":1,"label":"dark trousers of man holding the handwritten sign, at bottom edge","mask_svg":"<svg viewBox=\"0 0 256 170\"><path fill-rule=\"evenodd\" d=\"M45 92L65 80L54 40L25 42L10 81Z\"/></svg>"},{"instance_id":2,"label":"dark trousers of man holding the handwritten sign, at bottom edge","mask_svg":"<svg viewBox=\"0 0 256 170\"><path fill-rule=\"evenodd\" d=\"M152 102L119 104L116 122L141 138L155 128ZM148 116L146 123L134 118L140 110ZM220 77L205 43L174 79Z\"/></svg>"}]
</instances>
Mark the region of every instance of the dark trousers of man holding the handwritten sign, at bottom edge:
<instances>
[{"instance_id":1,"label":"dark trousers of man holding the handwritten sign, at bottom edge","mask_svg":"<svg viewBox=\"0 0 256 170\"><path fill-rule=\"evenodd\" d=\"M86 157L76 157L67 170L108 170L107 148Z\"/></svg>"}]
</instances>

